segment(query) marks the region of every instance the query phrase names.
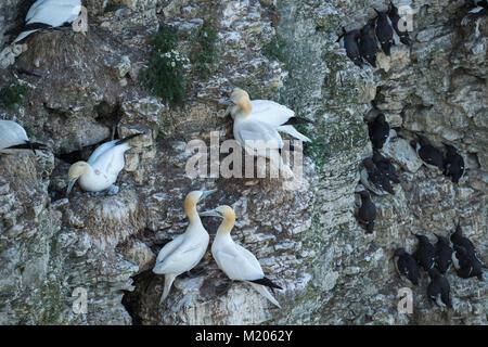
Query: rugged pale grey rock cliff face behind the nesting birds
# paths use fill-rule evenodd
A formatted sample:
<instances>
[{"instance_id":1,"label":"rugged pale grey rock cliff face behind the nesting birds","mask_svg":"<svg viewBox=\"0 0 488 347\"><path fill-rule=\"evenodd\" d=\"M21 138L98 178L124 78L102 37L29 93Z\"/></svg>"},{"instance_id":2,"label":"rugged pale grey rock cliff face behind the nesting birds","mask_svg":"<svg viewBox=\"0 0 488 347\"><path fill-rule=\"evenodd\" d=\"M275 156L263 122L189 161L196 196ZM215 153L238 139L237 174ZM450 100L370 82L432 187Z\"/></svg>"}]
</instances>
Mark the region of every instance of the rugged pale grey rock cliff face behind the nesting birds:
<instances>
[{"instance_id":1,"label":"rugged pale grey rock cliff face behind the nesting birds","mask_svg":"<svg viewBox=\"0 0 488 347\"><path fill-rule=\"evenodd\" d=\"M461 26L464 1L402 1L414 11L411 48L378 55L378 69L355 66L335 43L342 26L358 28L386 1L82 1L90 14L86 36L69 28L26 40L16 67L29 91L17 111L0 118L22 124L53 153L0 157L0 323L2 324L487 324L487 284L451 269L453 309L426 299L427 275L413 288L413 313L397 311L403 286L390 260L398 246L415 248L411 232L449 234L460 220L487 264L487 18ZM30 3L27 3L27 8ZM10 29L25 1L0 5L0 33ZM25 12L24 12L25 13ZM219 54L208 79L191 68L184 103L169 107L141 88L151 34L176 25L178 48L192 59L192 33L213 21ZM278 43L277 43L278 42ZM269 53L269 47L278 47ZM195 65L194 60L192 65ZM14 68L0 70L2 86ZM234 86L252 99L273 99L314 120L307 127L304 181L283 190L277 179L185 177L185 144L231 139L222 119ZM373 196L375 232L355 217L361 158L372 152L372 104L395 128L384 153L399 165L395 195ZM131 141L115 196L79 189L65 197L70 164L87 159L111 138L143 131ZM409 146L414 131L436 144L453 143L467 171L460 184L422 166ZM397 137L399 134L401 137ZM164 277L151 272L160 247L184 231L185 194L217 188L198 207L232 205L233 237L253 252L284 290L272 307L249 286L226 277L208 250L196 275L179 277L158 306ZM217 220L204 219L210 241ZM72 296L88 294L76 314Z\"/></svg>"}]
</instances>

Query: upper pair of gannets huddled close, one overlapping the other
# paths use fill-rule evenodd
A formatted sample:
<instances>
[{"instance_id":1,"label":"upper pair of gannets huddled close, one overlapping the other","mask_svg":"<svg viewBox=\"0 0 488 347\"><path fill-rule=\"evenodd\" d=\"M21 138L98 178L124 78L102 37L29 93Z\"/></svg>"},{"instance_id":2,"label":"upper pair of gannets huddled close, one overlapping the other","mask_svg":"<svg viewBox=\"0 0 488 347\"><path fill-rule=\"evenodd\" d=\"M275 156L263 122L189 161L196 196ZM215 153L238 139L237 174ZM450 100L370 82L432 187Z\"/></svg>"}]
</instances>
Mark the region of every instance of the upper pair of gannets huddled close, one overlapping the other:
<instances>
[{"instance_id":1,"label":"upper pair of gannets huddled close, one overlapping the other","mask_svg":"<svg viewBox=\"0 0 488 347\"><path fill-rule=\"evenodd\" d=\"M293 125L311 123L295 116L295 113L270 100L253 100L242 89L234 89L227 100L229 107L224 113L234 119L233 133L237 143L254 156L266 157L277 169L287 177L293 177L291 168L280 156L284 143L279 132L285 132L295 139L310 142L311 140L298 132Z\"/></svg>"}]
</instances>

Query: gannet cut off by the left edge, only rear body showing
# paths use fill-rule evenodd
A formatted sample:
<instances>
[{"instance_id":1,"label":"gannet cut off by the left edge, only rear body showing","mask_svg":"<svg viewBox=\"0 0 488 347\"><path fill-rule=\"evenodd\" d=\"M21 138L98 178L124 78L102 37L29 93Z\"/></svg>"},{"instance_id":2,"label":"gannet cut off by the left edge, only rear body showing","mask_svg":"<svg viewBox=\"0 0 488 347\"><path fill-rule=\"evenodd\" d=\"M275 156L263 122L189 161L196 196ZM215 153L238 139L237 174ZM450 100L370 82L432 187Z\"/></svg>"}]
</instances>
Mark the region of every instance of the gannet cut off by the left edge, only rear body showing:
<instances>
[{"instance_id":1,"label":"gannet cut off by the left edge, only rear body showing","mask_svg":"<svg viewBox=\"0 0 488 347\"><path fill-rule=\"evenodd\" d=\"M25 129L12 120L0 119L0 153L12 154L20 150L47 150L42 143L30 142Z\"/></svg>"}]
</instances>

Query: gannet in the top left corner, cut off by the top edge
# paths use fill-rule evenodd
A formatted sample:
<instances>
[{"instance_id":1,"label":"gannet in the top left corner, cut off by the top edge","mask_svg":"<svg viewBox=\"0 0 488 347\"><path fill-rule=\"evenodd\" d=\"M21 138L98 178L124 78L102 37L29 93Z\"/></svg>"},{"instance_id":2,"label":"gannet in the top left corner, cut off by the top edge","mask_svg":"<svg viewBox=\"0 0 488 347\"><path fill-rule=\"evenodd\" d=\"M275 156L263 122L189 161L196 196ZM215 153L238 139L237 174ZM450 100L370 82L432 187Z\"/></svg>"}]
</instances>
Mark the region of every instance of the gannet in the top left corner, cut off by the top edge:
<instances>
[{"instance_id":1,"label":"gannet in the top left corner, cut off by the top edge","mask_svg":"<svg viewBox=\"0 0 488 347\"><path fill-rule=\"evenodd\" d=\"M79 16L80 11L80 0L37 0L25 16L25 30L17 36L14 43L39 29L70 24Z\"/></svg>"}]
</instances>

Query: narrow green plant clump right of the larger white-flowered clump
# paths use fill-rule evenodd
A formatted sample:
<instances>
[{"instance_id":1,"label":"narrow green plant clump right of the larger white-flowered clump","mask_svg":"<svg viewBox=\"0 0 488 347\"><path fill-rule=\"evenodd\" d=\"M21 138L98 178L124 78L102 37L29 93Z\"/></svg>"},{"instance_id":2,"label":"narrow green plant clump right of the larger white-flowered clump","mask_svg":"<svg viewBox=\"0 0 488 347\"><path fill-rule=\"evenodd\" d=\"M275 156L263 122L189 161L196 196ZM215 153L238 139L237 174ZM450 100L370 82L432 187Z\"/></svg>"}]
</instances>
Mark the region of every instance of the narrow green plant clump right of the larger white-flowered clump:
<instances>
[{"instance_id":1,"label":"narrow green plant clump right of the larger white-flowered clump","mask_svg":"<svg viewBox=\"0 0 488 347\"><path fill-rule=\"evenodd\" d=\"M192 36L198 43L195 52L197 73L202 79L207 79L214 70L219 55L217 29L211 21L207 21Z\"/></svg>"}]
</instances>

